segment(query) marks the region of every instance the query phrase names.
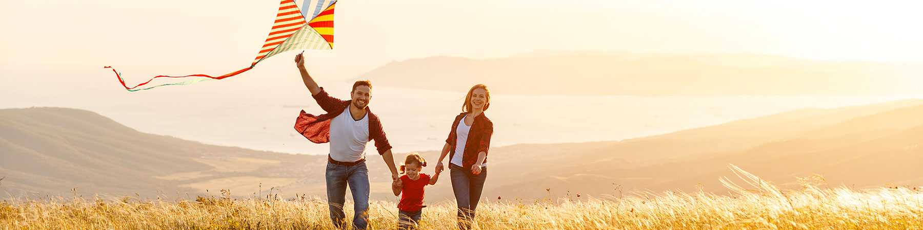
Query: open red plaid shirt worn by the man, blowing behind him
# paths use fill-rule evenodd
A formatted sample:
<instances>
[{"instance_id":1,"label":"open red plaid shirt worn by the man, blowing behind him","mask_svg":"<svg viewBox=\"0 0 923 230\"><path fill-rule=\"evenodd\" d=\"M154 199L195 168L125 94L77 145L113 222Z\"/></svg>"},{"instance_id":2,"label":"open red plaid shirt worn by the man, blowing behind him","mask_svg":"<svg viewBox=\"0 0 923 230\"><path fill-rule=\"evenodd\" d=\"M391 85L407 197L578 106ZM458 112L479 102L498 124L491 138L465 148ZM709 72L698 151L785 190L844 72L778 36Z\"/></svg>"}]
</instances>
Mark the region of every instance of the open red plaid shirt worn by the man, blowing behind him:
<instances>
[{"instance_id":1,"label":"open red plaid shirt worn by the man, blowing behind him","mask_svg":"<svg viewBox=\"0 0 923 230\"><path fill-rule=\"evenodd\" d=\"M353 100L342 100L330 97L327 91L324 90L324 87L320 87L320 93L313 97L318 101L320 108L327 111L327 113L314 116L308 114L305 110L301 110L301 114L298 115L298 118L294 121L294 130L304 135L307 140L311 140L313 143L329 143L330 120L340 116L343 110L353 103ZM368 107L366 107L366 112L368 116L368 139L375 140L375 147L378 149L378 155L383 155L385 151L391 149L391 144L388 143L388 137L385 136L385 131L381 128L381 121L378 120L378 116L372 113L372 110L368 109Z\"/></svg>"}]
</instances>

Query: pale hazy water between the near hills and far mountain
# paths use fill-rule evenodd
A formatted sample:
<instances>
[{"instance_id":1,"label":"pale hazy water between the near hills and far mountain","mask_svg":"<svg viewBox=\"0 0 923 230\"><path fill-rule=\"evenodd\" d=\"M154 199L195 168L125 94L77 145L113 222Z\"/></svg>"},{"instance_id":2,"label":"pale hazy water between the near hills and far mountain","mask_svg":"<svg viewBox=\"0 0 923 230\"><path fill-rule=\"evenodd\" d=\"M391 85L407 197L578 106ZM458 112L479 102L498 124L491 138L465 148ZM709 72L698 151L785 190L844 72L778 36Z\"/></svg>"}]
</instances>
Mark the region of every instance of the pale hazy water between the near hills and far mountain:
<instances>
[{"instance_id":1,"label":"pale hazy water between the near hills and far mountain","mask_svg":"<svg viewBox=\"0 0 923 230\"><path fill-rule=\"evenodd\" d=\"M303 87L303 86L302 86ZM349 85L333 85L337 98ZM159 90L159 89L155 89ZM240 146L292 154L327 154L293 129L301 109L323 113L304 89L292 94L226 94L221 97L119 92L48 96L0 92L0 108L88 109L140 132L170 135L204 144ZM126 96L127 95L127 96ZM395 153L438 150L461 112L464 93L378 86L370 109L384 125ZM708 96L571 97L510 96L495 92L485 114L494 121L492 146L609 141L756 118L801 108L837 108L911 97L879 96ZM367 153L375 153L369 144Z\"/></svg>"}]
</instances>

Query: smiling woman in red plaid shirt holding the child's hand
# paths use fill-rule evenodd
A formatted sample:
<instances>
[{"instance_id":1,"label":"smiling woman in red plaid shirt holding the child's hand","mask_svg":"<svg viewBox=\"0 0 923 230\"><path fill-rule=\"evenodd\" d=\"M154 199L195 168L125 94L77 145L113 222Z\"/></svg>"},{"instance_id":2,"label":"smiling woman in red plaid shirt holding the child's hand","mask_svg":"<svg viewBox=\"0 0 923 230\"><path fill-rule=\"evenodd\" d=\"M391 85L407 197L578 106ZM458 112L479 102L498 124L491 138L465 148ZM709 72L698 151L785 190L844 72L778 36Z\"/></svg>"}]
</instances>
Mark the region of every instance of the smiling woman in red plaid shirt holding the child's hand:
<instances>
[{"instance_id":1,"label":"smiling woman in red plaid shirt holding the child's hand","mask_svg":"<svg viewBox=\"0 0 923 230\"><path fill-rule=\"evenodd\" d=\"M461 229L471 229L474 209L481 200L484 180L487 178L487 150L494 123L484 114L490 107L490 91L478 84L468 90L462 105L462 114L455 117L449 139L442 147L436 165L442 170L442 160L449 155L450 178L455 200L458 201L458 224Z\"/></svg>"}]
</instances>

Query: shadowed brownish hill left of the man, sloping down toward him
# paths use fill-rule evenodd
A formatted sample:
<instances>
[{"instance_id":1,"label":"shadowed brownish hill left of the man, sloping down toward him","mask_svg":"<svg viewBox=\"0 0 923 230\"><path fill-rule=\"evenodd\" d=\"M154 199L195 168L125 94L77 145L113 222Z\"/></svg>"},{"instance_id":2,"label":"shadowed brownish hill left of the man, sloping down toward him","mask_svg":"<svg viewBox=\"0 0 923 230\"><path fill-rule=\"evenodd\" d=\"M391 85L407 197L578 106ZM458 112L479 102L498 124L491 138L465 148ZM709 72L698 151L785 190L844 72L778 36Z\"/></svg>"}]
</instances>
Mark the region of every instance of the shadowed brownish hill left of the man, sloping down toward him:
<instances>
[{"instance_id":1,"label":"shadowed brownish hill left of the man, sloping down toward him","mask_svg":"<svg viewBox=\"0 0 923 230\"><path fill-rule=\"evenodd\" d=\"M94 112L63 108L0 109L0 153L0 177L6 177L0 192L53 196L73 194L75 187L82 195L195 195L206 192L196 185L215 179L294 178L320 158L137 132ZM257 191L259 182L270 181L247 186Z\"/></svg>"}]
</instances>

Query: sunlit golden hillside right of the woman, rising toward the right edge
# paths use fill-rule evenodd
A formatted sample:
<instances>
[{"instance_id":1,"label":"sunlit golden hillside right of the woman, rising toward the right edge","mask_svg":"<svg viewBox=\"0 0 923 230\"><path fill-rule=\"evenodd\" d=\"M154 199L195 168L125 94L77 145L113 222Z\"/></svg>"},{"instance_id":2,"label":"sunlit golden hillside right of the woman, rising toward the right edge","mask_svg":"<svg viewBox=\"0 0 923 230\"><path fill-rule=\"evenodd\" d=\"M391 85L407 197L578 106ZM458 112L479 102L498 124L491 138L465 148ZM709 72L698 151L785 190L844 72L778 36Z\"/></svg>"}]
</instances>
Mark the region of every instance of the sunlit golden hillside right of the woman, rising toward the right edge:
<instances>
[{"instance_id":1,"label":"sunlit golden hillside right of the woman, rising toward the right edge","mask_svg":"<svg viewBox=\"0 0 923 230\"><path fill-rule=\"evenodd\" d=\"M820 174L832 186L919 185L923 169L923 101L840 109L800 109L751 120L625 140L574 151L581 163L540 165L518 183L490 193L541 196L545 189L612 194L623 190L728 191L718 178L737 178L734 164L785 189ZM613 163L617 164L613 164ZM500 164L497 164L500 165ZM503 166L500 166L503 167ZM603 192L601 192L603 191Z\"/></svg>"}]
</instances>

